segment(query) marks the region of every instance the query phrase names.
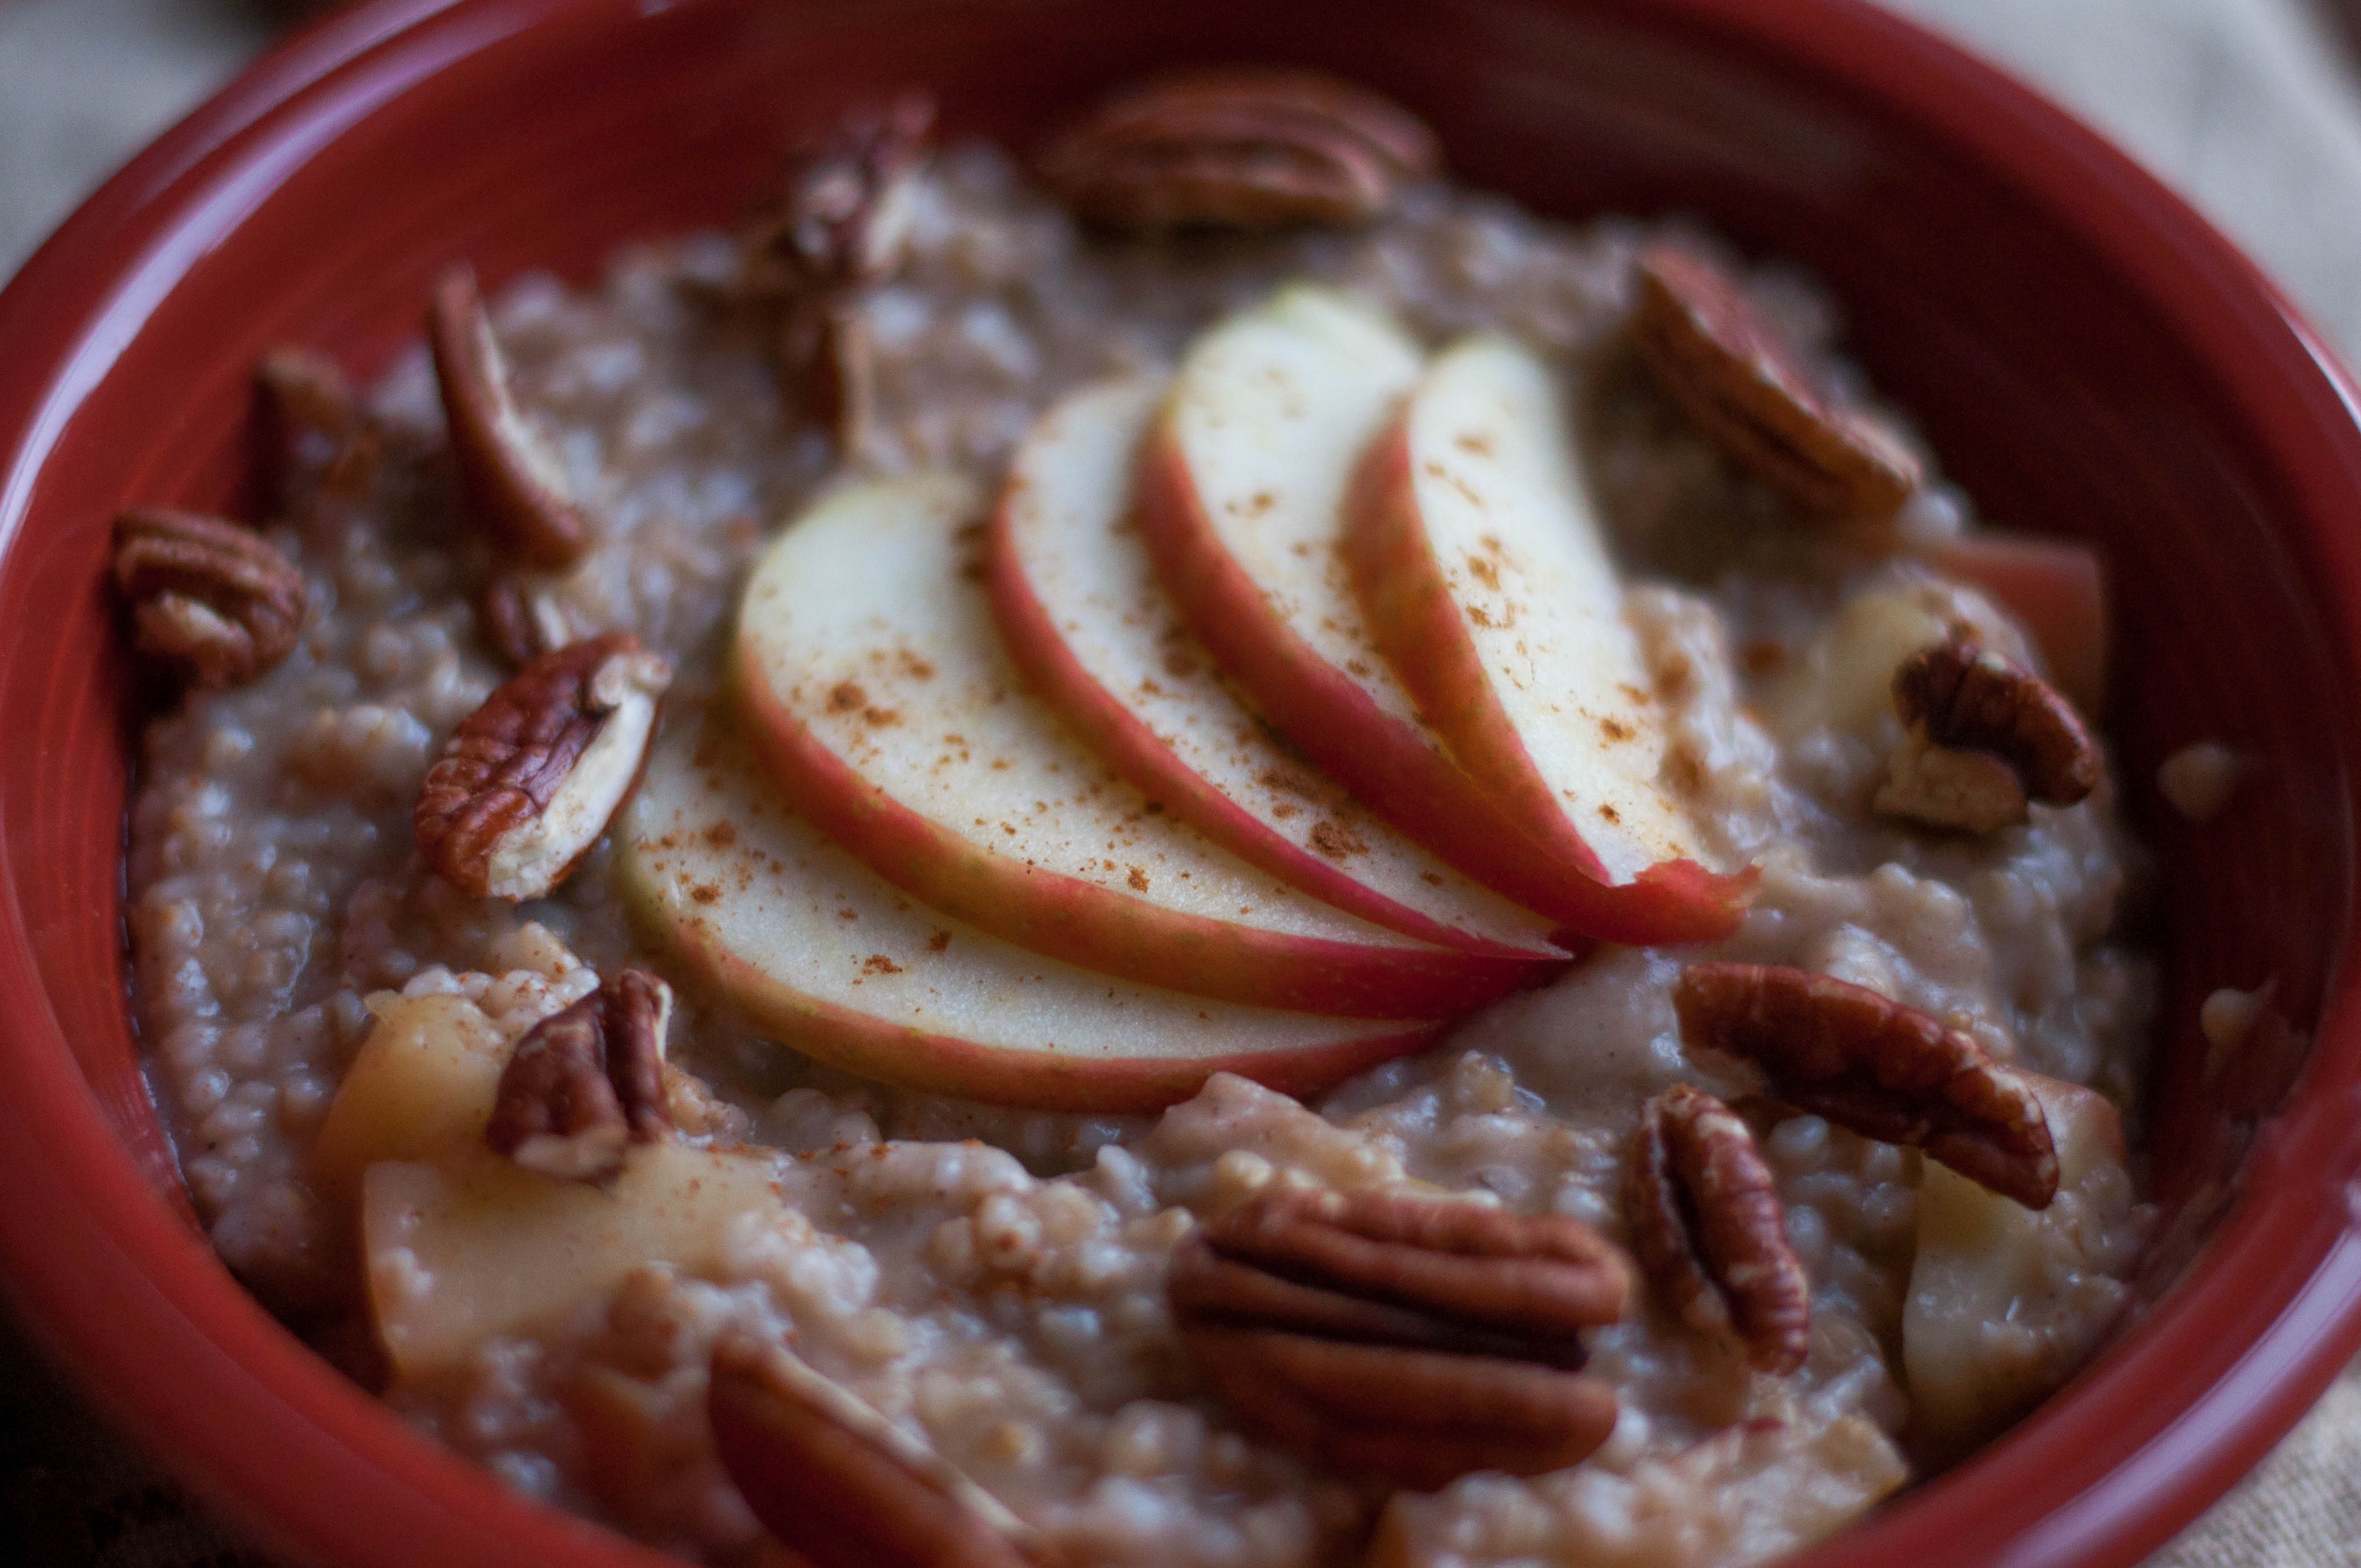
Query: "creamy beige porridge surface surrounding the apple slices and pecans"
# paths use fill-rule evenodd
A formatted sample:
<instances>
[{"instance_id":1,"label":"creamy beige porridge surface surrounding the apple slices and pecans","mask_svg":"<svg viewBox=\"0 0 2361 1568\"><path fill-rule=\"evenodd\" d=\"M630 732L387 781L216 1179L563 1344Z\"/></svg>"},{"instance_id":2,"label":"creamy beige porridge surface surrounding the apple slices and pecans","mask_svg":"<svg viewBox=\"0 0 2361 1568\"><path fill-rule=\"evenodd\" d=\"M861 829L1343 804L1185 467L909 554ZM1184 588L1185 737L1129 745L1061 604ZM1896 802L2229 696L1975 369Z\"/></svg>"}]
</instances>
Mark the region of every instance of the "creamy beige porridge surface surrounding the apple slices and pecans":
<instances>
[{"instance_id":1,"label":"creamy beige porridge surface surrounding the apple slices and pecans","mask_svg":"<svg viewBox=\"0 0 2361 1568\"><path fill-rule=\"evenodd\" d=\"M1712 848L1759 862L1735 935L1605 947L1440 1046L1313 1100L1214 1077L1152 1117L1051 1115L888 1091L796 1053L687 985L633 930L602 843L555 897L472 900L430 876L411 805L451 727L498 685L472 602L491 571L458 520L423 349L371 394L375 491L281 520L312 619L264 680L158 718L132 819L137 1015L156 1098L212 1240L250 1287L357 1377L371 1346L352 1195L312 1143L371 1027L493 1046L645 963L682 987L671 1060L687 1148L746 1145L777 1200L708 1244L619 1270L385 1396L512 1488L682 1556L774 1547L722 1474L706 1367L730 1332L798 1355L1001 1497L1074 1561L1742 1563L1787 1551L1941 1462L1912 1422L1903 1325L1919 1237L1915 1150L1764 1098L1690 1056L1672 982L1698 959L1827 973L1964 1030L1993 1056L2125 1110L2153 975L2118 942L2146 876L2101 784L1983 838L1865 810L1898 737L1882 628L1964 621L2023 661L2026 635L1912 553L1870 555L1778 515L1636 378L1617 345L1648 231L1572 229L1417 187L1348 234L1086 239L999 151L942 153L916 187L909 260L864 312L878 375L857 470L996 477L1058 394L1169 368L1190 335L1289 279L1327 279L1428 342L1495 326L1580 366L1594 477L1636 583L1643 656L1693 760ZM630 628L680 678L666 725L718 701L737 588L758 545L838 475L829 439L781 435L763 357L708 288L720 239L633 248L602 283L529 276L496 300L519 401L586 496L595 548L548 593L583 628ZM1834 324L1801 281L1754 302L1820 354ZM1825 359L1825 354L1823 354ZM1825 371L1858 378L1839 361ZM1858 385L1853 385L1858 392ZM297 486L302 489L302 486ZM1967 527L1924 489L1910 541ZM1868 697L1863 697L1868 682ZM425 1008L425 1011L420 1011ZM1287 1185L1428 1183L1620 1235L1643 1103L1700 1084L1740 1108L1811 1280L1811 1351L1750 1372L1653 1308L1591 1337L1622 1396L1589 1462L1476 1474L1386 1497L1242 1436L1178 1351L1173 1247L1204 1216ZM767 1155L765 1155L767 1150ZM1976 1355L2061 1381L2127 1306L2151 1211L2125 1167L2061 1188L2033 1278ZM397 1249L399 1252L399 1249ZM420 1259L373 1287L484 1287ZM489 1266L489 1263L486 1263Z\"/></svg>"}]
</instances>

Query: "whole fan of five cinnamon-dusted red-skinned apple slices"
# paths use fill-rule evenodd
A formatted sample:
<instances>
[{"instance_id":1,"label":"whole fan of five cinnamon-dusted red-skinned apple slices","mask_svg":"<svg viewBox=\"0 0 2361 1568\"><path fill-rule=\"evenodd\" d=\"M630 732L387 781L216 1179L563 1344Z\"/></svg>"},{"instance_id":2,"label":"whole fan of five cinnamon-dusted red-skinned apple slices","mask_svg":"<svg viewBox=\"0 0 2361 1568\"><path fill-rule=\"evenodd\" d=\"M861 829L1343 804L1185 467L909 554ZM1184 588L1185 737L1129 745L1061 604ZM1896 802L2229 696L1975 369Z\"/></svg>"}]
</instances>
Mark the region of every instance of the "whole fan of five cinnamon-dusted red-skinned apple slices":
<instances>
[{"instance_id":1,"label":"whole fan of five cinnamon-dusted red-skinned apple slices","mask_svg":"<svg viewBox=\"0 0 2361 1568\"><path fill-rule=\"evenodd\" d=\"M621 834L796 1046L992 1100L1308 1093L1589 940L1726 933L1568 446L1499 338L1294 288L1051 409L992 503L841 489Z\"/></svg>"}]
</instances>

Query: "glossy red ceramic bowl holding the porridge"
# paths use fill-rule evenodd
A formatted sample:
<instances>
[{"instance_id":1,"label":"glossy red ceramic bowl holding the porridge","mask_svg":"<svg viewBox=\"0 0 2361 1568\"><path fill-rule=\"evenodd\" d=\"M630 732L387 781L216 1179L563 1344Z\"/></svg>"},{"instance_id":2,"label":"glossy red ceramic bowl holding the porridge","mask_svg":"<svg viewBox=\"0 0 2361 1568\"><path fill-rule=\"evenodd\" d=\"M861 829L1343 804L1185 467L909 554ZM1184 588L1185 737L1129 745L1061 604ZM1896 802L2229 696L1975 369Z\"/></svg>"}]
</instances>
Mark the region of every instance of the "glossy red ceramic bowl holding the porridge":
<instances>
[{"instance_id":1,"label":"glossy red ceramic bowl holding the porridge","mask_svg":"<svg viewBox=\"0 0 2361 1568\"><path fill-rule=\"evenodd\" d=\"M1809 1561L2132 1563L2361 1344L2352 390L2064 113L1856 0L382 0L248 71L0 295L0 1270L125 1431L267 1547L659 1561L416 1436L194 1228L125 1011L137 716L109 515L243 508L255 357L305 340L378 371L451 257L586 279L628 236L725 220L796 128L881 90L1022 139L1112 78L1237 57L1398 94L1461 175L1546 213L1693 210L1806 262L1988 517L2106 553L2111 727L2167 874L2153 1178L2208 1240L2040 1415ZM2203 737L2262 765L2193 829L2149 779ZM2208 1077L2198 1001L2264 978L2283 1027Z\"/></svg>"}]
</instances>

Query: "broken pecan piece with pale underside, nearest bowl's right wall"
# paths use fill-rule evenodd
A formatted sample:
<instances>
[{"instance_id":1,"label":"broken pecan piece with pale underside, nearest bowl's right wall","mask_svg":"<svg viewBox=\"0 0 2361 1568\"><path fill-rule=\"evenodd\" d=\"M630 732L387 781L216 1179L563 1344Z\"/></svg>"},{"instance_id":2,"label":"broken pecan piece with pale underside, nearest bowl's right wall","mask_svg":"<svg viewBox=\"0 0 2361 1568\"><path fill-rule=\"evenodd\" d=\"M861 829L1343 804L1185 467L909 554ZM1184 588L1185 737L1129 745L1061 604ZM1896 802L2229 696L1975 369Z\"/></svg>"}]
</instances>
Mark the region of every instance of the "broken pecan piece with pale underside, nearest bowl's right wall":
<instances>
[{"instance_id":1,"label":"broken pecan piece with pale underside, nearest bowl's right wall","mask_svg":"<svg viewBox=\"0 0 2361 1568\"><path fill-rule=\"evenodd\" d=\"M1910 725L1877 810L1990 834L2026 803L2073 805L2099 786L2099 746L2073 704L2033 671L1953 631L1894 671Z\"/></svg>"}]
</instances>

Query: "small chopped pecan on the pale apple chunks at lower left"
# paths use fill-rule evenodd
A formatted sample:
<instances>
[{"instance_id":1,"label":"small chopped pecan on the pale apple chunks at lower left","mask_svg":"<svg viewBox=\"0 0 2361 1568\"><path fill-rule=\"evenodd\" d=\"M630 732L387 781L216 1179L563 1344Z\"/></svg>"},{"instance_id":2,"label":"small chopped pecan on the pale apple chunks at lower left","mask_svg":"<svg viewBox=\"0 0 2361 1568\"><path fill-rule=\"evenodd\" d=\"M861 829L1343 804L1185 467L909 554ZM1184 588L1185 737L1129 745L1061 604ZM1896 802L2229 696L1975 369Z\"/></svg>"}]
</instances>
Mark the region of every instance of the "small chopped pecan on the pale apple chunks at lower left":
<instances>
[{"instance_id":1,"label":"small chopped pecan on the pale apple chunks at lower left","mask_svg":"<svg viewBox=\"0 0 2361 1568\"><path fill-rule=\"evenodd\" d=\"M663 1098L671 1020L673 987L645 968L550 1013L508 1058L484 1143L557 1181L614 1176L628 1145L673 1126Z\"/></svg>"}]
</instances>

